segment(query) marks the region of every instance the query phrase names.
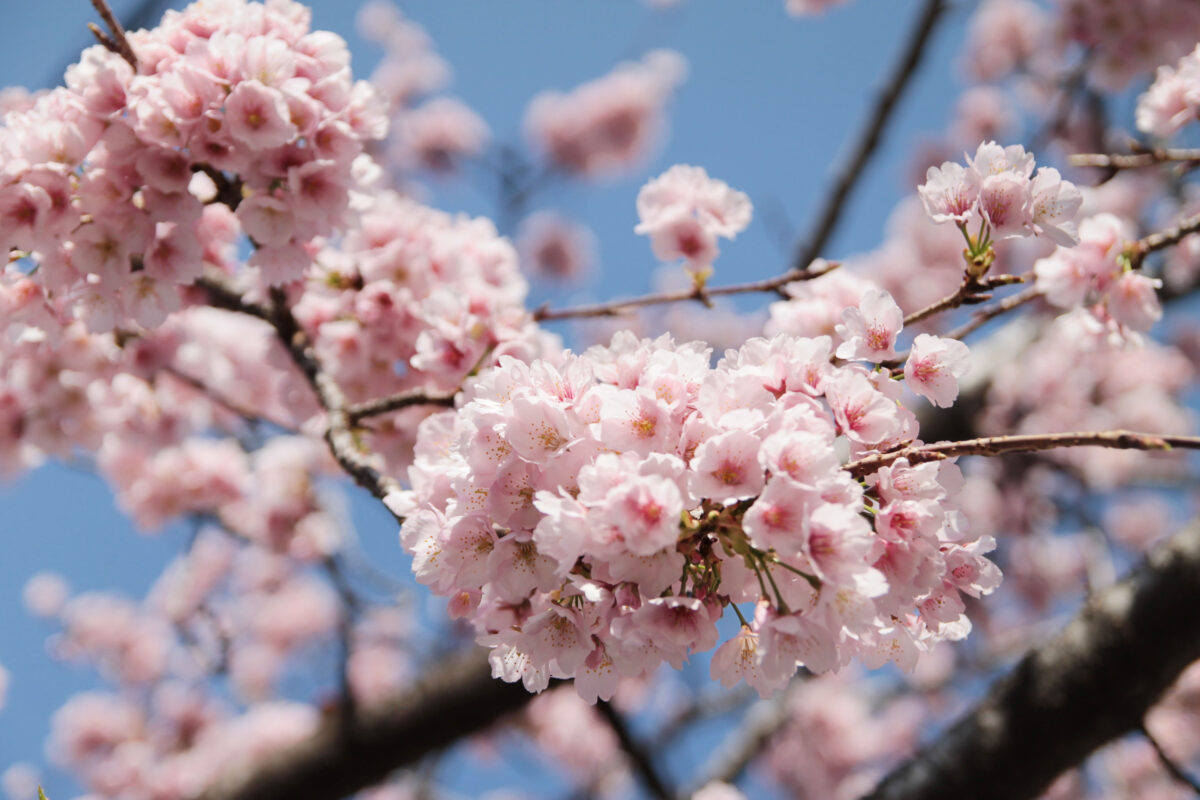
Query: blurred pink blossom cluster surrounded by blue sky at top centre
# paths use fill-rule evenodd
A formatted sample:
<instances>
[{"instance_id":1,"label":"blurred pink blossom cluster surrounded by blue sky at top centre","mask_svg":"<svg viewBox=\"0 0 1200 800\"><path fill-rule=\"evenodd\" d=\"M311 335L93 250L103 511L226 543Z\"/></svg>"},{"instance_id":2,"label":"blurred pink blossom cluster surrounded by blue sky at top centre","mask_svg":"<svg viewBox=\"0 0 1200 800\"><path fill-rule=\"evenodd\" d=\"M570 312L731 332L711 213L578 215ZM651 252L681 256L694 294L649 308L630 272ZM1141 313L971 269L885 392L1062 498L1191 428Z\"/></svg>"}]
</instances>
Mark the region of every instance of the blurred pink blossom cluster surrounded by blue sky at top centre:
<instances>
[{"instance_id":1,"label":"blurred pink blossom cluster surrounded by blue sky at top centre","mask_svg":"<svg viewBox=\"0 0 1200 800\"><path fill-rule=\"evenodd\" d=\"M685 72L678 53L654 50L565 95L538 95L526 112L526 132L568 173L620 172L644 157L659 137L665 106Z\"/></svg>"}]
</instances>

